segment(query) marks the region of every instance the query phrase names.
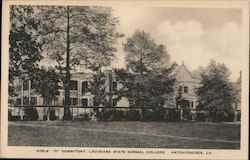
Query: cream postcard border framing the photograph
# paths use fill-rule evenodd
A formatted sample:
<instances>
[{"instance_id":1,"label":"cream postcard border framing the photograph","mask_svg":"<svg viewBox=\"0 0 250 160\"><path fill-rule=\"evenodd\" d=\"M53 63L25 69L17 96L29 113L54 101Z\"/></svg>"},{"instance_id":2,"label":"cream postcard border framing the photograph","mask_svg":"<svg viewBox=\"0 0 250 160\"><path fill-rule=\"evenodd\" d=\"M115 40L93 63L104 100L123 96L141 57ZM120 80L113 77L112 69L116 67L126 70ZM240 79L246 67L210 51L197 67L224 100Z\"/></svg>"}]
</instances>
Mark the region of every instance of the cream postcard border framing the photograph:
<instances>
[{"instance_id":1,"label":"cream postcard border framing the photograph","mask_svg":"<svg viewBox=\"0 0 250 160\"><path fill-rule=\"evenodd\" d=\"M7 128L8 128L8 34L9 34L9 5L13 4L30 4L30 5L100 5L100 6L160 6L160 7L190 7L190 8L241 8L242 9L242 30L244 50L242 54L242 119L241 119L241 149L240 150L216 150L216 149L150 149L152 151L164 150L166 154L92 154L88 151L92 149L104 148L80 148L80 147L9 147L7 146ZM129 14L129 13L128 13ZM247 0L213 0L213 1L174 1L174 0L100 0L100 1L39 1L39 0L4 0L2 10L2 66L1 66L1 150L0 156L8 158L102 158L102 159L247 159L248 158L248 88L249 88L249 2ZM86 154L81 153L37 153L37 149L77 149L86 150ZM106 149L106 148L105 148ZM108 148L110 151L117 150L118 148ZM122 150L131 150L130 148L119 148ZM135 150L135 149L134 149ZM147 148L138 150L149 150ZM172 151L202 151L203 153L210 151L211 155L200 154L172 154Z\"/></svg>"}]
</instances>

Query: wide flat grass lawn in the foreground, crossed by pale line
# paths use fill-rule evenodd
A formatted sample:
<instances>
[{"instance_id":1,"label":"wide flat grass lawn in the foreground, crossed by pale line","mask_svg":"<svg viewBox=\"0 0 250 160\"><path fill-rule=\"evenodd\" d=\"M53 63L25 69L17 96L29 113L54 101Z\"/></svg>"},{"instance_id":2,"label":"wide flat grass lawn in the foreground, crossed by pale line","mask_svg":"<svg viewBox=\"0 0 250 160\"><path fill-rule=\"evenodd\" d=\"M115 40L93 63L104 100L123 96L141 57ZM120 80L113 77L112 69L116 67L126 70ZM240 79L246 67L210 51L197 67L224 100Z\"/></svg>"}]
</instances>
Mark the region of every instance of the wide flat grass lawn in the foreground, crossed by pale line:
<instances>
[{"instance_id":1,"label":"wide flat grass lawn in the foreground, crossed by pale line","mask_svg":"<svg viewBox=\"0 0 250 160\"><path fill-rule=\"evenodd\" d=\"M239 149L240 124L9 122L10 146Z\"/></svg>"}]
</instances>

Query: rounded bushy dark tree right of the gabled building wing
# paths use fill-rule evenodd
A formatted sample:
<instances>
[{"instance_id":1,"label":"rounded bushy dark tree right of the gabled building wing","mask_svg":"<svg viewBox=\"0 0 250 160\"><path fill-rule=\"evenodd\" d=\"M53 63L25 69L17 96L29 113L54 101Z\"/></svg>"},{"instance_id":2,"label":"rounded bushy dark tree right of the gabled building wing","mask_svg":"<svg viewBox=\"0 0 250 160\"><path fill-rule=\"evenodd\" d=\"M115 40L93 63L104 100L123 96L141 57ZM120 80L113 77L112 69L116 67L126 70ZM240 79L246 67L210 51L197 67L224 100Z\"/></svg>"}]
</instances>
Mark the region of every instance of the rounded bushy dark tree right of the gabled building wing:
<instances>
[{"instance_id":1,"label":"rounded bushy dark tree right of the gabled building wing","mask_svg":"<svg viewBox=\"0 0 250 160\"><path fill-rule=\"evenodd\" d=\"M233 115L232 103L235 97L229 76L229 69L214 60L201 74L202 86L197 95L201 108L209 111L212 120L229 120Z\"/></svg>"}]
</instances>

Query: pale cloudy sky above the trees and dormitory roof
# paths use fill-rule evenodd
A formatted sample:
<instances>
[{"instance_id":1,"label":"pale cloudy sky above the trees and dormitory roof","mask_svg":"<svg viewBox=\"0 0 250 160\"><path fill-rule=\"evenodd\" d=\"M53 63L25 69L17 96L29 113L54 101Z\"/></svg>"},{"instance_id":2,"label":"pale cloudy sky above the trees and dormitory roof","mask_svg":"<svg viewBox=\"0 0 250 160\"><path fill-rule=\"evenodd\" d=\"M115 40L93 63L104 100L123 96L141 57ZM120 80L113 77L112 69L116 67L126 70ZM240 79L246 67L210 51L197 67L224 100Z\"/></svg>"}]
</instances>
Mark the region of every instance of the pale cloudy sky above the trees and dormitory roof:
<instances>
[{"instance_id":1,"label":"pale cloudy sky above the trees and dormitory roof","mask_svg":"<svg viewBox=\"0 0 250 160\"><path fill-rule=\"evenodd\" d=\"M242 50L241 9L113 7L119 18L119 39L112 67L124 67L123 45L137 30L150 33L167 48L171 62L192 71L207 66L211 59L230 69L232 81L239 77Z\"/></svg>"}]
</instances>

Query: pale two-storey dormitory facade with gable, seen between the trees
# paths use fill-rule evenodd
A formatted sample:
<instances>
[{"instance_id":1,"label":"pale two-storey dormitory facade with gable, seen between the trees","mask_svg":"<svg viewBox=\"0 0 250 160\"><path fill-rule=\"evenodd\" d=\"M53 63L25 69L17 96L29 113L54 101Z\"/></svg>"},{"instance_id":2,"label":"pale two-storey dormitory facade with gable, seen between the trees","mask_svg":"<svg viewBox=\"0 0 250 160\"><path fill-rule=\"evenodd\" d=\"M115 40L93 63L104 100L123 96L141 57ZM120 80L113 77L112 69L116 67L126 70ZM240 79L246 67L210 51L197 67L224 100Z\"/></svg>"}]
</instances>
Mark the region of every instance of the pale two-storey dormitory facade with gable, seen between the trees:
<instances>
[{"instance_id":1,"label":"pale two-storey dormitory facade with gable, seen between the trees","mask_svg":"<svg viewBox=\"0 0 250 160\"><path fill-rule=\"evenodd\" d=\"M116 95L114 94L117 90L122 88L121 83L116 81L115 75L111 70L104 71L106 81L106 91L107 93L111 93L111 97L107 97L110 102L110 107L129 107L129 100L126 97L122 97L121 99L116 100ZM72 73L71 81L70 81L70 106L71 113L73 117L78 118L79 116L84 114L93 113L93 98L88 87L90 82L93 80L94 73ZM176 106L175 98L178 96L178 90L182 91L182 97L189 102L189 106L187 108L196 109L198 105L198 98L195 94L196 89L200 86L200 80L193 78L191 73L187 70L187 68L182 64L179 66L174 76L176 78L176 83L174 86L174 94L169 96L168 100L165 102L166 108L178 108ZM9 109L14 116L21 116L23 118L24 111L21 107L15 106L34 106L39 115L39 120L46 119L45 117L48 115L48 112L53 109L55 111L55 116L57 119L63 118L63 106L64 106L64 90L60 90L60 95L55 97L50 106L48 104L44 104L43 98L35 93L35 90L32 87L31 80L21 80L16 79L14 81L15 92L17 96L14 98L14 106L12 105ZM44 107L45 106L45 107ZM22 119L21 118L21 119Z\"/></svg>"}]
</instances>

